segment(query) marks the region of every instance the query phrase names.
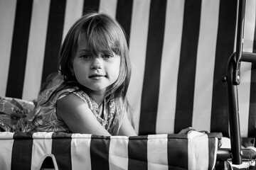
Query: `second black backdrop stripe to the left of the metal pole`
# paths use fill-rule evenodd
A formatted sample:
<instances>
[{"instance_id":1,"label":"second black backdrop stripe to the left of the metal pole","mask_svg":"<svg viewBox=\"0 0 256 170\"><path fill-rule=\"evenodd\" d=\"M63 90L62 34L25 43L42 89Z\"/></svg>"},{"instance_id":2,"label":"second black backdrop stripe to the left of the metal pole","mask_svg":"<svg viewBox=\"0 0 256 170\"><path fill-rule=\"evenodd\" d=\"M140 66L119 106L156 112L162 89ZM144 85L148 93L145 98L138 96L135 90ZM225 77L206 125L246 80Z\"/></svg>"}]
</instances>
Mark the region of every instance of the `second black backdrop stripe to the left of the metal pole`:
<instances>
[{"instance_id":1,"label":"second black backdrop stripe to the left of the metal pole","mask_svg":"<svg viewBox=\"0 0 256 170\"><path fill-rule=\"evenodd\" d=\"M192 125L201 0L185 1L174 132ZM174 56L173 56L174 57ZM170 74L171 79L171 74Z\"/></svg>"}]
</instances>

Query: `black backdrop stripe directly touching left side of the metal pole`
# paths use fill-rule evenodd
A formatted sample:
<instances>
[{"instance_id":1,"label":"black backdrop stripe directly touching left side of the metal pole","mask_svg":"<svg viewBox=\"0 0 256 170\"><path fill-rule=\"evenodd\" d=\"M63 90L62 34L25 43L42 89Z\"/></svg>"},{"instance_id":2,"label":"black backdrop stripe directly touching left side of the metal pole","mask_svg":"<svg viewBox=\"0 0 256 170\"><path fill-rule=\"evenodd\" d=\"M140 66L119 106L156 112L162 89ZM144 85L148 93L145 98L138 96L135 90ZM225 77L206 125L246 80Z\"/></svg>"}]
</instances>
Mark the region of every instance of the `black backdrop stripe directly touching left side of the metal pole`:
<instances>
[{"instance_id":1,"label":"black backdrop stripe directly touching left side of the metal pole","mask_svg":"<svg viewBox=\"0 0 256 170\"><path fill-rule=\"evenodd\" d=\"M237 1L220 1L210 132L223 132L225 137L229 137L228 92L221 77L225 76L228 58L234 51L236 10Z\"/></svg>"}]
</instances>

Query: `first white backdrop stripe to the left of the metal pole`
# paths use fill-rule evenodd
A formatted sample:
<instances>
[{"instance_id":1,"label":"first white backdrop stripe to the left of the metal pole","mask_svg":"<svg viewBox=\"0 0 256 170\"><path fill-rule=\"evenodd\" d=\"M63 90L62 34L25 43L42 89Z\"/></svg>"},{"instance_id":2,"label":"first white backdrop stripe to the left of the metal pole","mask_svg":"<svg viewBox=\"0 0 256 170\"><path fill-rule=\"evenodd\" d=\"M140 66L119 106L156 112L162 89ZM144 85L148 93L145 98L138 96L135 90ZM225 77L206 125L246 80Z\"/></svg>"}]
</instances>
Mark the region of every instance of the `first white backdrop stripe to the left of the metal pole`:
<instances>
[{"instance_id":1,"label":"first white backdrop stripe to the left of the metal pole","mask_svg":"<svg viewBox=\"0 0 256 170\"><path fill-rule=\"evenodd\" d=\"M193 128L210 131L219 0L203 0L196 60Z\"/></svg>"}]
</instances>

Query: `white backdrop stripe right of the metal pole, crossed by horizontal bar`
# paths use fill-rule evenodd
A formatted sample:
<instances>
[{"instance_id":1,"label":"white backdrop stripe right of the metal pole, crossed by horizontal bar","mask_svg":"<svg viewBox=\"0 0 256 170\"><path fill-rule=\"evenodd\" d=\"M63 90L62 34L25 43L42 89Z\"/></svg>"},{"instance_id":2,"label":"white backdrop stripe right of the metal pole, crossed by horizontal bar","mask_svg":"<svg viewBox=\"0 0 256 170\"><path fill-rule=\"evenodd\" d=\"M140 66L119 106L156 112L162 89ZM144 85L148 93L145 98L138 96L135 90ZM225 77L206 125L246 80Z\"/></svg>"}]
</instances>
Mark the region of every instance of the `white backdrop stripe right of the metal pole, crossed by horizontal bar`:
<instances>
[{"instance_id":1,"label":"white backdrop stripe right of the metal pole, crossed by horizontal bar","mask_svg":"<svg viewBox=\"0 0 256 170\"><path fill-rule=\"evenodd\" d=\"M255 0L246 1L245 10L245 30L244 30L244 52L252 52L254 35L255 35ZM238 86L238 103L240 113L240 130L241 136L247 137L248 133L248 119L250 108L250 81L251 81L251 67L249 62L242 62L241 71L241 83ZM253 95L253 94L252 94Z\"/></svg>"}]
</instances>

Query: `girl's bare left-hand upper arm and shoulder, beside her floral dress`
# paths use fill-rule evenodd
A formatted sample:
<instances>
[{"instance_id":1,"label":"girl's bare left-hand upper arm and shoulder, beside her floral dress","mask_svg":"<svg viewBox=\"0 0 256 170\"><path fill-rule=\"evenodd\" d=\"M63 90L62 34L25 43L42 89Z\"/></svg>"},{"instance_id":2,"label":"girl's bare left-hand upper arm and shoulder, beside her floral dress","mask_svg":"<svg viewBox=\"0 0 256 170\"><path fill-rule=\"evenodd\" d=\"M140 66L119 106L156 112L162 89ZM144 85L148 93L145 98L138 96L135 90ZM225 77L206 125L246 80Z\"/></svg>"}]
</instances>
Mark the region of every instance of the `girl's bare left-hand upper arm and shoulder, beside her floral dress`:
<instances>
[{"instance_id":1,"label":"girl's bare left-hand upper arm and shoulder, beside her floral dress","mask_svg":"<svg viewBox=\"0 0 256 170\"><path fill-rule=\"evenodd\" d=\"M73 133L110 136L97 121L87 104L75 94L69 94L57 101L56 112Z\"/></svg>"}]
</instances>

